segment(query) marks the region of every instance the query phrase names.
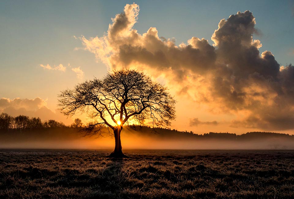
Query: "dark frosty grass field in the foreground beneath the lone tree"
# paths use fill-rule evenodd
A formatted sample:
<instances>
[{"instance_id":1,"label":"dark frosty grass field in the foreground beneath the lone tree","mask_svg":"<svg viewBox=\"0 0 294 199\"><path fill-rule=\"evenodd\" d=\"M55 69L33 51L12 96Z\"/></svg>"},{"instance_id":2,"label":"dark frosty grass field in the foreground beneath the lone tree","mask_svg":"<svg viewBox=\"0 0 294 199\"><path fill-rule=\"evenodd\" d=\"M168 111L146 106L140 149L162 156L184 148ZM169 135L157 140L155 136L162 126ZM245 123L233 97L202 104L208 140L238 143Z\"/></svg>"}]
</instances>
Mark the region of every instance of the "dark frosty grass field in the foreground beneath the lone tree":
<instances>
[{"instance_id":1,"label":"dark frosty grass field in the foreground beneath the lone tree","mask_svg":"<svg viewBox=\"0 0 294 199\"><path fill-rule=\"evenodd\" d=\"M294 151L0 150L0 198L294 198Z\"/></svg>"}]
</instances>

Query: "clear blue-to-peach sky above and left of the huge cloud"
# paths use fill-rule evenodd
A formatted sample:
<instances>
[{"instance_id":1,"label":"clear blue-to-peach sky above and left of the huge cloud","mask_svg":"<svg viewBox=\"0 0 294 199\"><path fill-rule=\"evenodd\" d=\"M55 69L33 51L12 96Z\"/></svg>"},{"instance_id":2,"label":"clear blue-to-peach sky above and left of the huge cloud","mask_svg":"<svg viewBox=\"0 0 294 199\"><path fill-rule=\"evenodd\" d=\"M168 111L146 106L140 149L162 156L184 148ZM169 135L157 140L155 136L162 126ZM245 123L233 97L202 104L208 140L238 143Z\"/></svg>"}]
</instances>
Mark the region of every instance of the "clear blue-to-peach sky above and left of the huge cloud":
<instances>
[{"instance_id":1,"label":"clear blue-to-peach sky above and left of the huge cloud","mask_svg":"<svg viewBox=\"0 0 294 199\"><path fill-rule=\"evenodd\" d=\"M0 97L47 100L54 110L57 94L81 81L76 74L45 70L40 64L79 67L84 80L102 77L107 67L82 47L80 37L103 36L111 18L133 1L1 1ZM221 19L250 10L262 43L280 65L294 63L294 1L135 1L140 6L134 29L175 38L176 45L195 36L213 44Z\"/></svg>"}]
</instances>

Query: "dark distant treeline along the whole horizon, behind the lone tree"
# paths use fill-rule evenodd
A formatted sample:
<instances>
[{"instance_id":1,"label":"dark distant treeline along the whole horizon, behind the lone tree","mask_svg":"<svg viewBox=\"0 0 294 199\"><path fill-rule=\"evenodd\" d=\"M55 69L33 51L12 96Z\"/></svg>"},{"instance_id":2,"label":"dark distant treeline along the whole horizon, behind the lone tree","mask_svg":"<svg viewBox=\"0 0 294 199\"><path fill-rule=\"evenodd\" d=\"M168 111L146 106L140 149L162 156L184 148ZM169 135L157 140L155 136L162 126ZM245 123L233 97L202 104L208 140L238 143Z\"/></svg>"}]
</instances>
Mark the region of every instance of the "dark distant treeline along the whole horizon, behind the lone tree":
<instances>
[{"instance_id":1,"label":"dark distant treeline along the whole horizon, behind the lone tree","mask_svg":"<svg viewBox=\"0 0 294 199\"><path fill-rule=\"evenodd\" d=\"M32 117L29 118L25 115L19 115L17 117L12 117L6 113L0 114L0 131L1 132L21 132L27 135L36 134L37 132L49 133L52 134L56 132L67 132L70 133L68 128L81 128L83 127L81 119L76 118L71 125L66 126L62 122L57 122L53 119L41 121L41 119ZM53 130L58 128L59 130ZM240 141L240 140L252 140L252 139L266 139L266 138L286 138L294 139L294 135L289 135L285 133L272 133L272 132L247 132L241 135L236 133L215 133L209 132L202 134L196 134L192 131L178 131L171 130L170 128L160 128L160 127L150 127L150 126L138 126L131 125L125 126L124 128L128 129L128 132L125 133L134 133L140 136L148 137L157 137L162 139L217 139L217 140L231 140L231 141ZM50 130L52 129L52 130ZM63 129L63 130L62 130ZM66 130L67 129L67 130ZM48 131L49 130L49 131ZM103 129L106 133L109 133L107 128ZM77 132L77 130L75 131ZM83 133L81 133L83 134Z\"/></svg>"}]
</instances>

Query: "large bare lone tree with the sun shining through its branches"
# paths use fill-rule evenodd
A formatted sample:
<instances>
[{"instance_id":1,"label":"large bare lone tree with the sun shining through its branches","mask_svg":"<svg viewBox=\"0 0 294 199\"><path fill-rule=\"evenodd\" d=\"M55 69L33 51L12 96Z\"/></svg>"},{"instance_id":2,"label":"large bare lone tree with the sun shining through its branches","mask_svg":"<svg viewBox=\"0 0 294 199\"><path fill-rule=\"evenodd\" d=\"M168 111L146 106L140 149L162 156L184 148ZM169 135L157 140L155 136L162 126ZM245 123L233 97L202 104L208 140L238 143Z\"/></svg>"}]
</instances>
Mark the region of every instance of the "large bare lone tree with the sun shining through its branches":
<instances>
[{"instance_id":1,"label":"large bare lone tree with the sun shining through its branches","mask_svg":"<svg viewBox=\"0 0 294 199\"><path fill-rule=\"evenodd\" d=\"M175 119L175 100L167 88L137 70L113 70L102 79L61 91L58 97L58 106L65 115L81 111L92 118L84 127L85 135L101 133L103 127L113 131L115 149L111 157L125 157L120 134L126 122L144 124L150 119L153 126L168 126Z\"/></svg>"}]
</instances>

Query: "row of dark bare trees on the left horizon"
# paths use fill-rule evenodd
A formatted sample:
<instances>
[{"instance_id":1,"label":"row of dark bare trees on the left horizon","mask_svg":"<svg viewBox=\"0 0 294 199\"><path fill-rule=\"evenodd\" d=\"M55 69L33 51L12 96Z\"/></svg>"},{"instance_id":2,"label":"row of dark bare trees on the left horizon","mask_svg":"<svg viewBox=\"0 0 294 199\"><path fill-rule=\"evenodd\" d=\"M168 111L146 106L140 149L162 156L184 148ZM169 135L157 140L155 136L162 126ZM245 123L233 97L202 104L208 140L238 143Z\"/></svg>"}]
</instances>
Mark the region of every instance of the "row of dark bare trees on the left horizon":
<instances>
[{"instance_id":1,"label":"row of dark bare trees on the left horizon","mask_svg":"<svg viewBox=\"0 0 294 199\"><path fill-rule=\"evenodd\" d=\"M19 115L17 117L12 117L7 113L0 114L0 130L1 131L24 131L24 130L36 130L42 128L65 128L65 127L82 127L83 123L81 119L76 118L70 126L66 126L62 122L55 121L53 119L41 121L41 119L32 117L29 118L26 115Z\"/></svg>"}]
</instances>

